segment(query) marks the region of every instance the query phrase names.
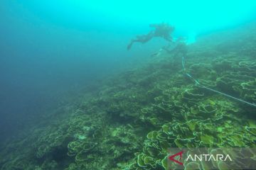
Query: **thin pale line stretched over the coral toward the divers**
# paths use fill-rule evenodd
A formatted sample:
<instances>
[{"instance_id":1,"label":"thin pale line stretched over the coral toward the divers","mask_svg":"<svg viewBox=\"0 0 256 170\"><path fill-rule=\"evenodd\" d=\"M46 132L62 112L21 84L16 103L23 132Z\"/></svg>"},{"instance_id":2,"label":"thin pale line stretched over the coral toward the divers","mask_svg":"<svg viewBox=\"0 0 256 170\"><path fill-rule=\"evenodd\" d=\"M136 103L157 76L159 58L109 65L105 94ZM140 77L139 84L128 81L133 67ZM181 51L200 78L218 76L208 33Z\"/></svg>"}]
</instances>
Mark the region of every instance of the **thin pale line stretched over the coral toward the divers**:
<instances>
[{"instance_id":1,"label":"thin pale line stretched over the coral toward the divers","mask_svg":"<svg viewBox=\"0 0 256 170\"><path fill-rule=\"evenodd\" d=\"M185 72L185 74L186 74L190 79L193 79L193 81L196 83L197 86L200 86L200 87L203 88L203 89L208 89L209 91L213 91L213 92L215 92L215 93L217 93L217 94L221 94L221 95L223 95L223 96L227 96L227 97L229 97L229 98L233 98L233 99L235 99L236 101L240 101L240 102L242 102L242 103L246 103L247 105L256 107L256 104L255 104L255 103L250 103L250 102L244 101L244 100L242 100L242 99L240 99L240 98L235 98L234 96L230 96L229 94L224 94L223 92L216 91L216 90L214 90L214 89L210 89L209 87L203 86L202 84L200 84L199 81L197 81L195 78L193 78L193 77L191 76L191 74L188 74L188 72L186 72L186 69L185 69L185 58L184 58L184 57L182 57L182 67L183 67L183 71Z\"/></svg>"}]
</instances>

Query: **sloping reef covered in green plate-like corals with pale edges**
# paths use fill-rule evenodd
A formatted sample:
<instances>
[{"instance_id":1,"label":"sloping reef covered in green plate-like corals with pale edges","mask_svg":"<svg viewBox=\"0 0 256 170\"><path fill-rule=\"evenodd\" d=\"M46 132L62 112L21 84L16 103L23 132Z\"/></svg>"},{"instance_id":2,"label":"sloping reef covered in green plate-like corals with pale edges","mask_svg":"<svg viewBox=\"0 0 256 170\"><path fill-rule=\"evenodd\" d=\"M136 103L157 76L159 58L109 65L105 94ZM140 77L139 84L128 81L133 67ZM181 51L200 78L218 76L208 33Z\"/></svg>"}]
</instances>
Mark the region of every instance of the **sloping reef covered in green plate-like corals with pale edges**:
<instances>
[{"instance_id":1,"label":"sloping reef covered in green plate-like corals with pale edges","mask_svg":"<svg viewBox=\"0 0 256 170\"><path fill-rule=\"evenodd\" d=\"M186 71L201 84L256 103L255 29L235 31L239 42L212 35L187 45ZM85 92L60 110L62 117L53 114L46 122L54 121L1 148L1 170L164 170L169 147L256 147L255 108L196 86L184 75L180 55L162 52Z\"/></svg>"}]
</instances>

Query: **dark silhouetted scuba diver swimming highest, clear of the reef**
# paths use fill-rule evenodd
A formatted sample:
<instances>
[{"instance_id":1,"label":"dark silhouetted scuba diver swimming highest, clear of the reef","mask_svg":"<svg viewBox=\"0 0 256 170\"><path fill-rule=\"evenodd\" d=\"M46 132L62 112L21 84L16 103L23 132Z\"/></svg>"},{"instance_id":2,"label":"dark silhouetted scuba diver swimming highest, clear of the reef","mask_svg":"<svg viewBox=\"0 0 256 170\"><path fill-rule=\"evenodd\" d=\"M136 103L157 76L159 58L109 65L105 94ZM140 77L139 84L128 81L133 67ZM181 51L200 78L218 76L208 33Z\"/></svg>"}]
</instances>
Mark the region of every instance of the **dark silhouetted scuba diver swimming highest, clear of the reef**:
<instances>
[{"instance_id":1,"label":"dark silhouetted scuba diver swimming highest, clear of the reef","mask_svg":"<svg viewBox=\"0 0 256 170\"><path fill-rule=\"evenodd\" d=\"M132 39L129 45L127 45L127 50L131 49L134 42L141 42L144 44L154 37L161 37L169 42L172 41L171 33L174 31L174 27L170 26L168 23L150 24L149 26L154 28L154 30L151 30L146 35L137 35L137 38Z\"/></svg>"}]
</instances>

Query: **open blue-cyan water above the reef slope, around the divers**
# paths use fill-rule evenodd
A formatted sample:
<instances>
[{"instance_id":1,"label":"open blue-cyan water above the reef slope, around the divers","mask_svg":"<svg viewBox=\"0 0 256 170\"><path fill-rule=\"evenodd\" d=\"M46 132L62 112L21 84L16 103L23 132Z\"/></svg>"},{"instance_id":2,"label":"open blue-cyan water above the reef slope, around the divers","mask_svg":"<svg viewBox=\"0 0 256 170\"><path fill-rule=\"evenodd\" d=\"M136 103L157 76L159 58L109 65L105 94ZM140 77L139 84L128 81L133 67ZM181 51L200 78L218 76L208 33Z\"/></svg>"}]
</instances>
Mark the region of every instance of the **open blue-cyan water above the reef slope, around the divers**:
<instances>
[{"instance_id":1,"label":"open blue-cyan water above the reef slope, around the divers","mask_svg":"<svg viewBox=\"0 0 256 170\"><path fill-rule=\"evenodd\" d=\"M168 22L174 36L195 42L198 35L253 21L255 14L255 1L2 0L0 136L40 121L85 86L143 64L164 40L129 52L126 46L147 33L149 23Z\"/></svg>"}]
</instances>

